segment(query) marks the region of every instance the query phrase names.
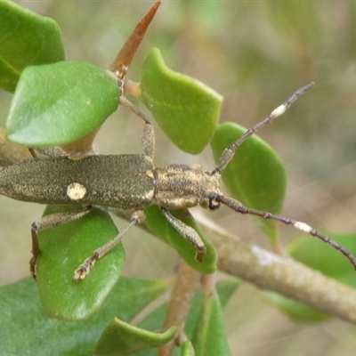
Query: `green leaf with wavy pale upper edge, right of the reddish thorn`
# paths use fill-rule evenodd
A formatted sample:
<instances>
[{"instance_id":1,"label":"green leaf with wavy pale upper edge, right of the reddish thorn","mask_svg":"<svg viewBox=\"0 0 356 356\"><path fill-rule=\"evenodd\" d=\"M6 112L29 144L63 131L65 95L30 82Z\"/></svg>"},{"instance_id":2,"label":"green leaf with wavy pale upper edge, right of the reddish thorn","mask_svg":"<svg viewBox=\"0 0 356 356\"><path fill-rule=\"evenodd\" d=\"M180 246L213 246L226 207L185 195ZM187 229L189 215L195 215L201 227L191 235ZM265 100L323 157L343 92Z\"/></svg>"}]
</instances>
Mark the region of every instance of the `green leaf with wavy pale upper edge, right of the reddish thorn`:
<instances>
[{"instance_id":1,"label":"green leaf with wavy pale upper edge, right of the reddish thorn","mask_svg":"<svg viewBox=\"0 0 356 356\"><path fill-rule=\"evenodd\" d=\"M196 79L166 67L158 48L142 63L140 100L181 150L198 154L210 142L223 97Z\"/></svg>"}]
</instances>

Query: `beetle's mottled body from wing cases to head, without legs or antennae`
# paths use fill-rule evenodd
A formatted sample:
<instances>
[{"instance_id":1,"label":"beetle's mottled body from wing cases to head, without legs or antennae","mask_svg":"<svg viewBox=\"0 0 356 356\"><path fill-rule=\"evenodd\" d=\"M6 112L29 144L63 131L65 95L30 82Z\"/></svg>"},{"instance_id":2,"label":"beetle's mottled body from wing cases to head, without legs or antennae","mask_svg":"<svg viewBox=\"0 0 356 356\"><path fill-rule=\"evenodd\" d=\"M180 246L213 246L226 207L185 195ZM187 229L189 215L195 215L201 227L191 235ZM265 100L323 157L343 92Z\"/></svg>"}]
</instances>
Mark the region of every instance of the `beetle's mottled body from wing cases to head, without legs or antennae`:
<instances>
[{"instance_id":1,"label":"beetle's mottled body from wing cases to head, without legs or antennae","mask_svg":"<svg viewBox=\"0 0 356 356\"><path fill-rule=\"evenodd\" d=\"M40 204L209 208L219 178L199 165L156 168L145 155L35 158L0 170L0 194Z\"/></svg>"}]
</instances>

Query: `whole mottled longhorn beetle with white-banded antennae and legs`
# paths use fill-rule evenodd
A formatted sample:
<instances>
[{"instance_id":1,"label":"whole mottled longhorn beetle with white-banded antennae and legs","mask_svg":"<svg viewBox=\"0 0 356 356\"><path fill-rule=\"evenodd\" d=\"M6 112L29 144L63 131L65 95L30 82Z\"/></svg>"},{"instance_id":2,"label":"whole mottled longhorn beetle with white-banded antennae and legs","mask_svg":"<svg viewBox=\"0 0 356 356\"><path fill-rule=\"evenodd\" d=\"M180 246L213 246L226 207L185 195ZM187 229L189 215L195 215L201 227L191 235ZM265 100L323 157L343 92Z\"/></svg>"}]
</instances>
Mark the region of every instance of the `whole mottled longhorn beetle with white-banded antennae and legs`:
<instances>
[{"instance_id":1,"label":"whole mottled longhorn beetle with white-banded antennae and legs","mask_svg":"<svg viewBox=\"0 0 356 356\"><path fill-rule=\"evenodd\" d=\"M312 229L306 223L243 206L238 200L224 197L220 190L220 176L242 142L255 134L263 125L282 115L296 99L314 86L305 85L293 93L287 101L274 109L262 121L252 126L238 140L223 151L213 171L201 166L170 165L158 168L153 165L155 137L150 120L134 105L121 96L120 102L132 109L145 122L142 135L142 155L89 156L72 159L59 148L36 149L48 158L20 161L0 171L0 193L23 201L42 204L83 204L77 212L51 214L32 224L32 253L30 271L36 279L36 261L40 254L37 233L62 223L69 223L87 214L92 205L134 209L129 225L106 245L98 248L74 272L73 280L84 279L93 264L124 237L134 225L145 219L143 208L157 204L169 223L182 238L196 247L196 259L202 261L206 247L198 233L169 213L169 209L202 206L216 210L222 204L241 214L253 214L272 219L307 232L340 250L356 269L356 258L344 247Z\"/></svg>"}]
</instances>

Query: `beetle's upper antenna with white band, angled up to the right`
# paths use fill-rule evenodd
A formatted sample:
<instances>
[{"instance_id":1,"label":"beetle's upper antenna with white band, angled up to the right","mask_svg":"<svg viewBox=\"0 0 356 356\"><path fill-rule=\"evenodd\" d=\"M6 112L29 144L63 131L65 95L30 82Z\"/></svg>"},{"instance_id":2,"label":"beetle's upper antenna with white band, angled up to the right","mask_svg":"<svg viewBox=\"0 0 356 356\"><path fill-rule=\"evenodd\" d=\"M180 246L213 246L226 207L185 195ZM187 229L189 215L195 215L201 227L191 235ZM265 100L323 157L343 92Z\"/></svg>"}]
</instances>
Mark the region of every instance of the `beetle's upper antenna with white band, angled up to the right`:
<instances>
[{"instance_id":1,"label":"beetle's upper antenna with white band, angled up to the right","mask_svg":"<svg viewBox=\"0 0 356 356\"><path fill-rule=\"evenodd\" d=\"M217 163L212 174L220 174L221 172L223 172L225 167L229 164L229 162L233 158L235 151L241 145L241 143L245 142L248 137L255 134L255 132L258 131L264 125L270 124L270 122L274 118L279 117L280 115L284 114L286 112L286 110L293 104L293 102L295 102L299 98L299 96L301 96L303 93L306 93L309 90L311 90L314 85L315 85L315 83L312 82L312 83L309 83L308 85L304 85L301 88L299 88L295 93L293 93L291 96L289 96L287 101L283 102L283 104L279 105L278 108L274 109L268 117L264 117L263 120L261 120L259 123L255 124L251 128L249 128L247 130L247 132L245 134L243 134L238 140L231 143L231 146L223 151L223 154L222 154L221 158L219 159L219 162Z\"/></svg>"}]
</instances>

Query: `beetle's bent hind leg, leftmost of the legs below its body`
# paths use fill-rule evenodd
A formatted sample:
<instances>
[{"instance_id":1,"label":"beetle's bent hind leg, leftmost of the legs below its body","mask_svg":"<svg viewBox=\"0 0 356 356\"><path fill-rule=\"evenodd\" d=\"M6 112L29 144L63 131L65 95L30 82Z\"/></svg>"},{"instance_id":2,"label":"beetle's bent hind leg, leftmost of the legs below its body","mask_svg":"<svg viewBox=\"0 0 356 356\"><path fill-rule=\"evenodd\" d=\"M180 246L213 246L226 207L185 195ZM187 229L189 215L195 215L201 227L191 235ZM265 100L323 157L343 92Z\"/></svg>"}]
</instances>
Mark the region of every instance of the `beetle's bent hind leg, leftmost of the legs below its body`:
<instances>
[{"instance_id":1,"label":"beetle's bent hind leg, leftmost of the legs below its body","mask_svg":"<svg viewBox=\"0 0 356 356\"><path fill-rule=\"evenodd\" d=\"M32 277L36 280L36 264L38 255L41 253L41 249L38 244L38 232L47 229L52 229L55 226L62 225L63 223L69 223L73 220L79 219L83 215L89 213L92 206L85 206L82 210L74 212L63 212L43 216L41 219L32 223L31 235L32 235L32 258L29 261L29 271Z\"/></svg>"}]
</instances>

